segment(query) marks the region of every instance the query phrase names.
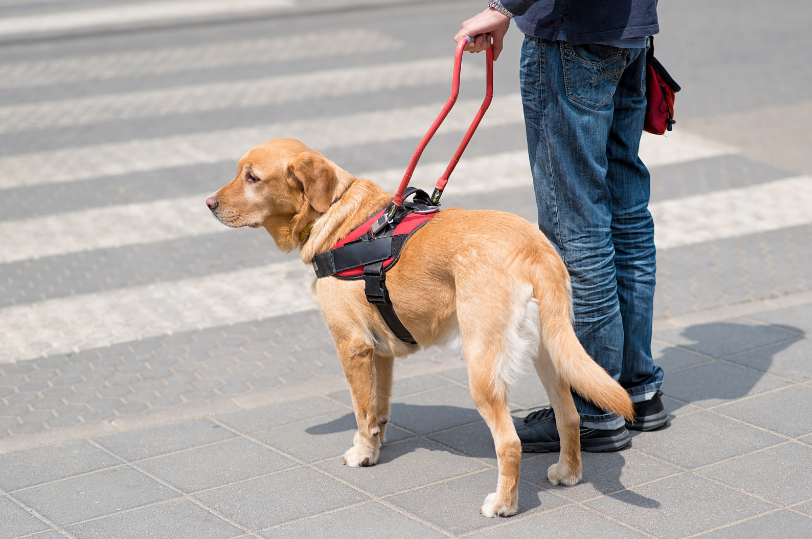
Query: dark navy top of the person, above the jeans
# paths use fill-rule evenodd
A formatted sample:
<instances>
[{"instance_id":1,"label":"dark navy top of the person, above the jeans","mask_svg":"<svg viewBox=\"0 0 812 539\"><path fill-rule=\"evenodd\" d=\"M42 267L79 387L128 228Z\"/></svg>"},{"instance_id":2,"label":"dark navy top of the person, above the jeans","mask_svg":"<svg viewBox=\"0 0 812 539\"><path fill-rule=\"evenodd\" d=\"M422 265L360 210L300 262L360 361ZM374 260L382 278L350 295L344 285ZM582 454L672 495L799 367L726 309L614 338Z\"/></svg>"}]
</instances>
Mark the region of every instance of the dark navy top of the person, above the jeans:
<instances>
[{"instance_id":1,"label":"dark navy top of the person, above the jeans","mask_svg":"<svg viewBox=\"0 0 812 539\"><path fill-rule=\"evenodd\" d=\"M660 31L657 0L501 0L524 34L571 45L651 36Z\"/></svg>"}]
</instances>

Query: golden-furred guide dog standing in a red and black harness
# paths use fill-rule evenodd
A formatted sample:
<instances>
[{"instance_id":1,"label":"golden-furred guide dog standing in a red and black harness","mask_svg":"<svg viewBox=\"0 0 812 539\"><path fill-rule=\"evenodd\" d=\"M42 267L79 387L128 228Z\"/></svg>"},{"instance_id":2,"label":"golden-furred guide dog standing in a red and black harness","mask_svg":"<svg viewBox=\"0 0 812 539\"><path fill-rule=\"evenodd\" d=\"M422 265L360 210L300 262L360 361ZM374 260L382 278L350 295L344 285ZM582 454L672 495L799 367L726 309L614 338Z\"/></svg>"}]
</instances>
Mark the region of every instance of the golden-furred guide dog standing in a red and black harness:
<instances>
[{"instance_id":1,"label":"golden-furred guide dog standing in a red and black harness","mask_svg":"<svg viewBox=\"0 0 812 539\"><path fill-rule=\"evenodd\" d=\"M292 139L253 148L238 168L206 201L209 208L230 227L265 227L283 251L300 248L305 264L392 199ZM362 280L330 277L313 287L358 422L345 464L378 460L394 358L434 344L461 341L471 396L493 435L499 480L496 492L485 498L485 516L509 516L518 509L522 448L507 397L527 360L547 390L561 436L560 458L547 471L552 484L581 479L579 417L570 388L627 419L633 416L626 391L575 336L564 263L524 219L498 211L445 210L412 236L386 283L398 318L418 345L395 337L367 302Z\"/></svg>"}]
</instances>

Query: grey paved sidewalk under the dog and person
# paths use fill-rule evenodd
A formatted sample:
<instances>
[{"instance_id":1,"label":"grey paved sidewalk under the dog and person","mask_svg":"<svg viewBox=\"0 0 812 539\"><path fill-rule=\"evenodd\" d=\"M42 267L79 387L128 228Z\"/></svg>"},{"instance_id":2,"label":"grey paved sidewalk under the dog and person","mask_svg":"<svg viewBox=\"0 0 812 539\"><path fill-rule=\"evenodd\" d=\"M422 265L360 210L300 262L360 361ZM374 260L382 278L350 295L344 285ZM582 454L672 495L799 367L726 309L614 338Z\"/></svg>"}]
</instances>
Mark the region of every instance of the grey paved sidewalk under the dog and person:
<instances>
[{"instance_id":1,"label":"grey paved sidewalk under the dog and person","mask_svg":"<svg viewBox=\"0 0 812 539\"><path fill-rule=\"evenodd\" d=\"M496 484L493 444L462 361L442 351L422 358L422 366L435 365L432 374L398 365L380 463L342 466L355 425L348 391L298 398L312 391L313 373L338 364L325 335L315 315L298 315L224 331L214 342L189 334L129 353L5 366L0 391L43 410L32 414L52 409L54 426L77 417L90 424L114 411L126 418L146 402L194 402L215 389L250 397L287 388L290 400L209 401L156 417L157 426L130 430L137 422L113 420L109 434L77 429L76 439L45 447L21 449L51 442L47 434L0 439L0 451L18 449L0 455L0 537L538 537L539 530L586 537L600 530L676 538L715 530L707 537L785 539L812 530L810 293L658 320L656 359L667 371L671 422L635 435L630 449L584 453L584 480L575 487L547 483L557 455L525 455L520 512L510 519L478 514ZM191 363L189 355L201 359ZM50 390L35 393L48 381ZM56 394L71 404L54 405ZM545 403L535 375L511 400L514 409ZM71 438L70 428L61 436Z\"/></svg>"}]
</instances>

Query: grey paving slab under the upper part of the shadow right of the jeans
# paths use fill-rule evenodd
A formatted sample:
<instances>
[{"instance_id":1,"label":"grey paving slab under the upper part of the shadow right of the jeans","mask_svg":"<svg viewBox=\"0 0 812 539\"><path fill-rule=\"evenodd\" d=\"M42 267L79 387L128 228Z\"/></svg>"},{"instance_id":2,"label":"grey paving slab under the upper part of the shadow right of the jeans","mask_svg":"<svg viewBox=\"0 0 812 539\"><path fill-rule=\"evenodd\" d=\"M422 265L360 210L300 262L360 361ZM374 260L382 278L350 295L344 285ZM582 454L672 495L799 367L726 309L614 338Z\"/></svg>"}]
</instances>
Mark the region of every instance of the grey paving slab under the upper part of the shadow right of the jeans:
<instances>
[{"instance_id":1,"label":"grey paving slab under the upper part of the shadow right of the jeans","mask_svg":"<svg viewBox=\"0 0 812 539\"><path fill-rule=\"evenodd\" d=\"M656 338L661 341L677 344L715 358L724 358L796 337L797 333L774 326L755 324L743 319L700 324L656 334Z\"/></svg>"}]
</instances>

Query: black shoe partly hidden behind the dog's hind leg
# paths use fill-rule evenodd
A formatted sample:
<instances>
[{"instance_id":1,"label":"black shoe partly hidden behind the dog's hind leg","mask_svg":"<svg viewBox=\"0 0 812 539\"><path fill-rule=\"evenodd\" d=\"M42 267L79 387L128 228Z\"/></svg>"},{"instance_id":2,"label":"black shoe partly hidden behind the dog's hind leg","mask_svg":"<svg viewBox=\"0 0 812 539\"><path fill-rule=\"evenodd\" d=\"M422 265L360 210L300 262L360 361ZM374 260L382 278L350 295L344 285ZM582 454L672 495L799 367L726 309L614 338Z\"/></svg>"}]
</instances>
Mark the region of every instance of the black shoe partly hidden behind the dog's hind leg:
<instances>
[{"instance_id":1,"label":"black shoe partly hidden behind the dog's hind leg","mask_svg":"<svg viewBox=\"0 0 812 539\"><path fill-rule=\"evenodd\" d=\"M514 422L524 453L549 453L561 451L558 427L552 408L542 408L524 419ZM631 436L626 427L614 430L598 430L581 427L581 450L590 453L619 451L629 445Z\"/></svg>"}]
</instances>

